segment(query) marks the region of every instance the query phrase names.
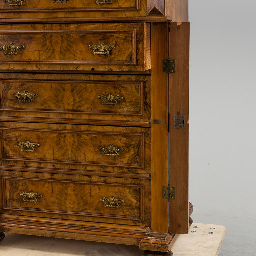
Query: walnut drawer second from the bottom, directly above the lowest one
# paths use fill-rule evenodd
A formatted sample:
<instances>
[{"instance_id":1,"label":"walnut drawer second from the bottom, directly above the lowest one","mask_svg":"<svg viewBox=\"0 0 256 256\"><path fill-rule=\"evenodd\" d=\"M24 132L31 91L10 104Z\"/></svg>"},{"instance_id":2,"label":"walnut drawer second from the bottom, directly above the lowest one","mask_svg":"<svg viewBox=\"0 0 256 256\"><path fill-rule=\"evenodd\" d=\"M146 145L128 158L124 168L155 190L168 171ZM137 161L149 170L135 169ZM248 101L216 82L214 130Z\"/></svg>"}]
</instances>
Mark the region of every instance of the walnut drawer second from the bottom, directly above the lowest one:
<instances>
[{"instance_id":1,"label":"walnut drawer second from the bottom, directly above the lowest one","mask_svg":"<svg viewBox=\"0 0 256 256\"><path fill-rule=\"evenodd\" d=\"M149 128L2 122L0 129L1 160L150 172Z\"/></svg>"}]
</instances>

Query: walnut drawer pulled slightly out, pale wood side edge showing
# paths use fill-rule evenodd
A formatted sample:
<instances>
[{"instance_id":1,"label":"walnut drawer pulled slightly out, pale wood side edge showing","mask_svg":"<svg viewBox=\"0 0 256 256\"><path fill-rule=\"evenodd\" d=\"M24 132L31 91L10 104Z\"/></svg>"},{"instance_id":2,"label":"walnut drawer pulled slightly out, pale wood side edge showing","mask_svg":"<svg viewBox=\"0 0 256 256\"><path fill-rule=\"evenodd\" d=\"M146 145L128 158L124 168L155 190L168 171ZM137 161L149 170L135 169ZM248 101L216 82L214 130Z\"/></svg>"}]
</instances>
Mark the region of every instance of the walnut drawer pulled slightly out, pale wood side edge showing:
<instances>
[{"instance_id":1,"label":"walnut drawer pulled slightly out, pale wood side edge showing","mask_svg":"<svg viewBox=\"0 0 256 256\"><path fill-rule=\"evenodd\" d=\"M149 23L0 26L1 70L144 71Z\"/></svg>"}]
</instances>

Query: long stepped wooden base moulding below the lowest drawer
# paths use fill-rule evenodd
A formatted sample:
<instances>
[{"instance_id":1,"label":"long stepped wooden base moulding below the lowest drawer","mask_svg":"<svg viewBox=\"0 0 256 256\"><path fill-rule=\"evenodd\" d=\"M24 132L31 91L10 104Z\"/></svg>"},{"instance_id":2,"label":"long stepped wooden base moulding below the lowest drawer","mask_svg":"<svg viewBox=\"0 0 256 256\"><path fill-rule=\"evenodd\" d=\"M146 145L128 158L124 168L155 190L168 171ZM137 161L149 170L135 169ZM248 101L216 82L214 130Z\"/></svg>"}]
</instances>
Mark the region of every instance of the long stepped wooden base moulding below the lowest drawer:
<instances>
[{"instance_id":1,"label":"long stepped wooden base moulding below the lowest drawer","mask_svg":"<svg viewBox=\"0 0 256 256\"><path fill-rule=\"evenodd\" d=\"M0 215L0 230L9 233L139 245L148 227ZM43 225L42 225L43 224Z\"/></svg>"}]
</instances>

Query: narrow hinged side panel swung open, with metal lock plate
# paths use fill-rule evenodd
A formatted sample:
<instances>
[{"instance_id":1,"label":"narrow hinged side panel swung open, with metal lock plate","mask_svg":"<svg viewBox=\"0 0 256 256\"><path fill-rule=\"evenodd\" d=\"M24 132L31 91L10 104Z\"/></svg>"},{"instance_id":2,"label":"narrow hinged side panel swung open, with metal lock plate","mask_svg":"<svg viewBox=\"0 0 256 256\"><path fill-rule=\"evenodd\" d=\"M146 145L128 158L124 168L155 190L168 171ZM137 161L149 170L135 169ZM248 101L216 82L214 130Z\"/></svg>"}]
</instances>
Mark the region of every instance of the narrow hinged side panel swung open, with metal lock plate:
<instances>
[{"instance_id":1,"label":"narrow hinged side panel swung open, with metal lock plate","mask_svg":"<svg viewBox=\"0 0 256 256\"><path fill-rule=\"evenodd\" d=\"M169 184L175 188L175 199L169 201L169 232L187 234L189 22L170 22L170 58L176 60L176 71L170 74Z\"/></svg>"}]
</instances>

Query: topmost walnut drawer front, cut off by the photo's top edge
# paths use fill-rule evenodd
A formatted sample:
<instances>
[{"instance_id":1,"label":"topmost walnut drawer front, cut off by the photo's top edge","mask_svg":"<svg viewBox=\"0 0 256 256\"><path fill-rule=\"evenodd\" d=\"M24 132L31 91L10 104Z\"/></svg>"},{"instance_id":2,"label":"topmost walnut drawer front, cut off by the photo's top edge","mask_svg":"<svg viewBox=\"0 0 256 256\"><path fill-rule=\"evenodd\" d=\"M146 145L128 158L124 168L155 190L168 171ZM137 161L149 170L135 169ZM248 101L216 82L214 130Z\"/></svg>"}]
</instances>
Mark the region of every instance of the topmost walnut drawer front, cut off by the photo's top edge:
<instances>
[{"instance_id":1,"label":"topmost walnut drawer front, cut off by the photo's top edge","mask_svg":"<svg viewBox=\"0 0 256 256\"><path fill-rule=\"evenodd\" d=\"M146 16L145 6L145 0L6 0L0 18L134 17Z\"/></svg>"}]
</instances>

